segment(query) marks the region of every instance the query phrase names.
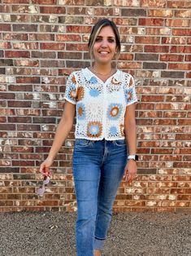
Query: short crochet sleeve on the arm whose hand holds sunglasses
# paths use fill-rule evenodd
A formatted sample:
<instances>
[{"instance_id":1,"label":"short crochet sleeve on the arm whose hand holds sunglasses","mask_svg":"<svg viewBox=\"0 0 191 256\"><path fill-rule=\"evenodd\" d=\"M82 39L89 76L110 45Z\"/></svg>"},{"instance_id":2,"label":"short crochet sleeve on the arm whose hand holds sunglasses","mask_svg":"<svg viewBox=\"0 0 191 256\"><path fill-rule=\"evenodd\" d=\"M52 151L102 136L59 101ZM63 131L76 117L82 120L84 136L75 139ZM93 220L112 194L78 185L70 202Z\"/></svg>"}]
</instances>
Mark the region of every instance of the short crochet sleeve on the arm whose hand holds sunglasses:
<instances>
[{"instance_id":1,"label":"short crochet sleeve on the arm whose hand holds sunglasses","mask_svg":"<svg viewBox=\"0 0 191 256\"><path fill-rule=\"evenodd\" d=\"M64 99L66 99L72 104L76 104L76 90L77 90L76 77L75 77L75 73L72 72L70 76L67 78L67 85L66 85Z\"/></svg>"}]
</instances>

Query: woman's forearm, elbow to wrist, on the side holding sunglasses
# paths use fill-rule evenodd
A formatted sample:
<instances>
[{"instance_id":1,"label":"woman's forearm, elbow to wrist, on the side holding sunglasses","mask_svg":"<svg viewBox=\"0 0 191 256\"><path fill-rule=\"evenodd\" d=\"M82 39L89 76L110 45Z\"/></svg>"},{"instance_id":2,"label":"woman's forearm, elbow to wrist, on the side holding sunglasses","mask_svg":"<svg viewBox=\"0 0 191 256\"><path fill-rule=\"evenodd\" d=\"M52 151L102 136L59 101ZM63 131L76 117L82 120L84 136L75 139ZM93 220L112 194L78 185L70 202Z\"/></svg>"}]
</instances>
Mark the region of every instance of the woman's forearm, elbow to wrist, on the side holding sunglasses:
<instances>
[{"instance_id":1,"label":"woman's forearm, elbow to wrist, on the side holding sunglasses","mask_svg":"<svg viewBox=\"0 0 191 256\"><path fill-rule=\"evenodd\" d=\"M50 148L49 152L49 158L53 161L56 157L57 153L59 152L59 149L62 147L64 140L67 138L67 135L69 134L70 130L72 130L72 122L67 123L61 120L59 122L59 126L57 126L55 135L54 135L54 141L52 144L52 147Z\"/></svg>"}]
</instances>

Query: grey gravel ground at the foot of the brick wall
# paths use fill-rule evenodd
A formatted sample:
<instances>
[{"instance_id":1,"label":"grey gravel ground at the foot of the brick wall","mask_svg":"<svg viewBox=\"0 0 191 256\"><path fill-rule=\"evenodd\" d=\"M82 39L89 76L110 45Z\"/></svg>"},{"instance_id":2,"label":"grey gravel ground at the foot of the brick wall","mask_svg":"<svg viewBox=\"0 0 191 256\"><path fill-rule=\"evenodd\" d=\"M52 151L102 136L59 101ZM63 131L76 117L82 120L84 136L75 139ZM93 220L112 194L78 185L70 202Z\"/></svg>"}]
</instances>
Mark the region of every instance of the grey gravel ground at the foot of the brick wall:
<instances>
[{"instance_id":1,"label":"grey gravel ground at the foot of the brick wall","mask_svg":"<svg viewBox=\"0 0 191 256\"><path fill-rule=\"evenodd\" d=\"M0 214L0 255L75 256L76 213ZM114 214L103 256L190 256L191 214Z\"/></svg>"}]
</instances>

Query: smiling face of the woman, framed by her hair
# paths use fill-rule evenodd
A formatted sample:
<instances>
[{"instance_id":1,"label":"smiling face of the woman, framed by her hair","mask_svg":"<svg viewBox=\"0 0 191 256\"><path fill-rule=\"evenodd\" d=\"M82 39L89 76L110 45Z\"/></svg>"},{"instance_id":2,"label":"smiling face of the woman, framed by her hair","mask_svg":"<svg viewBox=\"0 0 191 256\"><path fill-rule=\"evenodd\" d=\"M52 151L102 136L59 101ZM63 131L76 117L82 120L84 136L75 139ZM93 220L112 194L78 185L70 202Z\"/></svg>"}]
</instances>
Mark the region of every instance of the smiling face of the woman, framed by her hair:
<instances>
[{"instance_id":1,"label":"smiling face of the woman, framed by her hair","mask_svg":"<svg viewBox=\"0 0 191 256\"><path fill-rule=\"evenodd\" d=\"M99 64L111 63L116 51L115 33L110 26L103 27L93 45L93 56Z\"/></svg>"}]
</instances>

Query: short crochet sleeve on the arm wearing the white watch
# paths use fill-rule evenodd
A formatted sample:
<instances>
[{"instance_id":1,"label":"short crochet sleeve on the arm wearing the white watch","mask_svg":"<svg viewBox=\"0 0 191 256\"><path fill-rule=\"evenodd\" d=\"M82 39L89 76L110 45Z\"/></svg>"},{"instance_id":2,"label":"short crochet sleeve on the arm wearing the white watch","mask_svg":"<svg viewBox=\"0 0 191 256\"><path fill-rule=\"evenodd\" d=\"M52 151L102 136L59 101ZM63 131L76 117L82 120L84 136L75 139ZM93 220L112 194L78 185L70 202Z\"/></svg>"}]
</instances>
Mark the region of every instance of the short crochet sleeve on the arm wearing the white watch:
<instances>
[{"instance_id":1,"label":"short crochet sleeve on the arm wearing the white watch","mask_svg":"<svg viewBox=\"0 0 191 256\"><path fill-rule=\"evenodd\" d=\"M135 80L132 75L128 74L128 79L126 80L126 86L124 90L124 96L126 100L126 105L131 105L137 102L137 95L135 90Z\"/></svg>"}]
</instances>

